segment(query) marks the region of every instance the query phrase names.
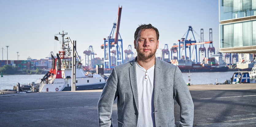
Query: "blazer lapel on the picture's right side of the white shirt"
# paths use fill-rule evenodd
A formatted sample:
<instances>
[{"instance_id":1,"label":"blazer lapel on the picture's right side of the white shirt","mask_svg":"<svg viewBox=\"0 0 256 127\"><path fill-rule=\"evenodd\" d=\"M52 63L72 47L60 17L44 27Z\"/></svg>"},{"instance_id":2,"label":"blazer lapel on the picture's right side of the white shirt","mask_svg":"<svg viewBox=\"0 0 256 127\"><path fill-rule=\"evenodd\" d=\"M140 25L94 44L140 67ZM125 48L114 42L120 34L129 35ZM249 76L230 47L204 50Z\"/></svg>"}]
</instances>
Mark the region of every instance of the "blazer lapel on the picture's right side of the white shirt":
<instances>
[{"instance_id":1,"label":"blazer lapel on the picture's right side of the white shirt","mask_svg":"<svg viewBox=\"0 0 256 127\"><path fill-rule=\"evenodd\" d=\"M158 97L158 93L159 93L160 77L161 77L160 60L155 57L155 70L154 70L154 109L155 109L155 105L156 105L157 97Z\"/></svg>"}]
</instances>

